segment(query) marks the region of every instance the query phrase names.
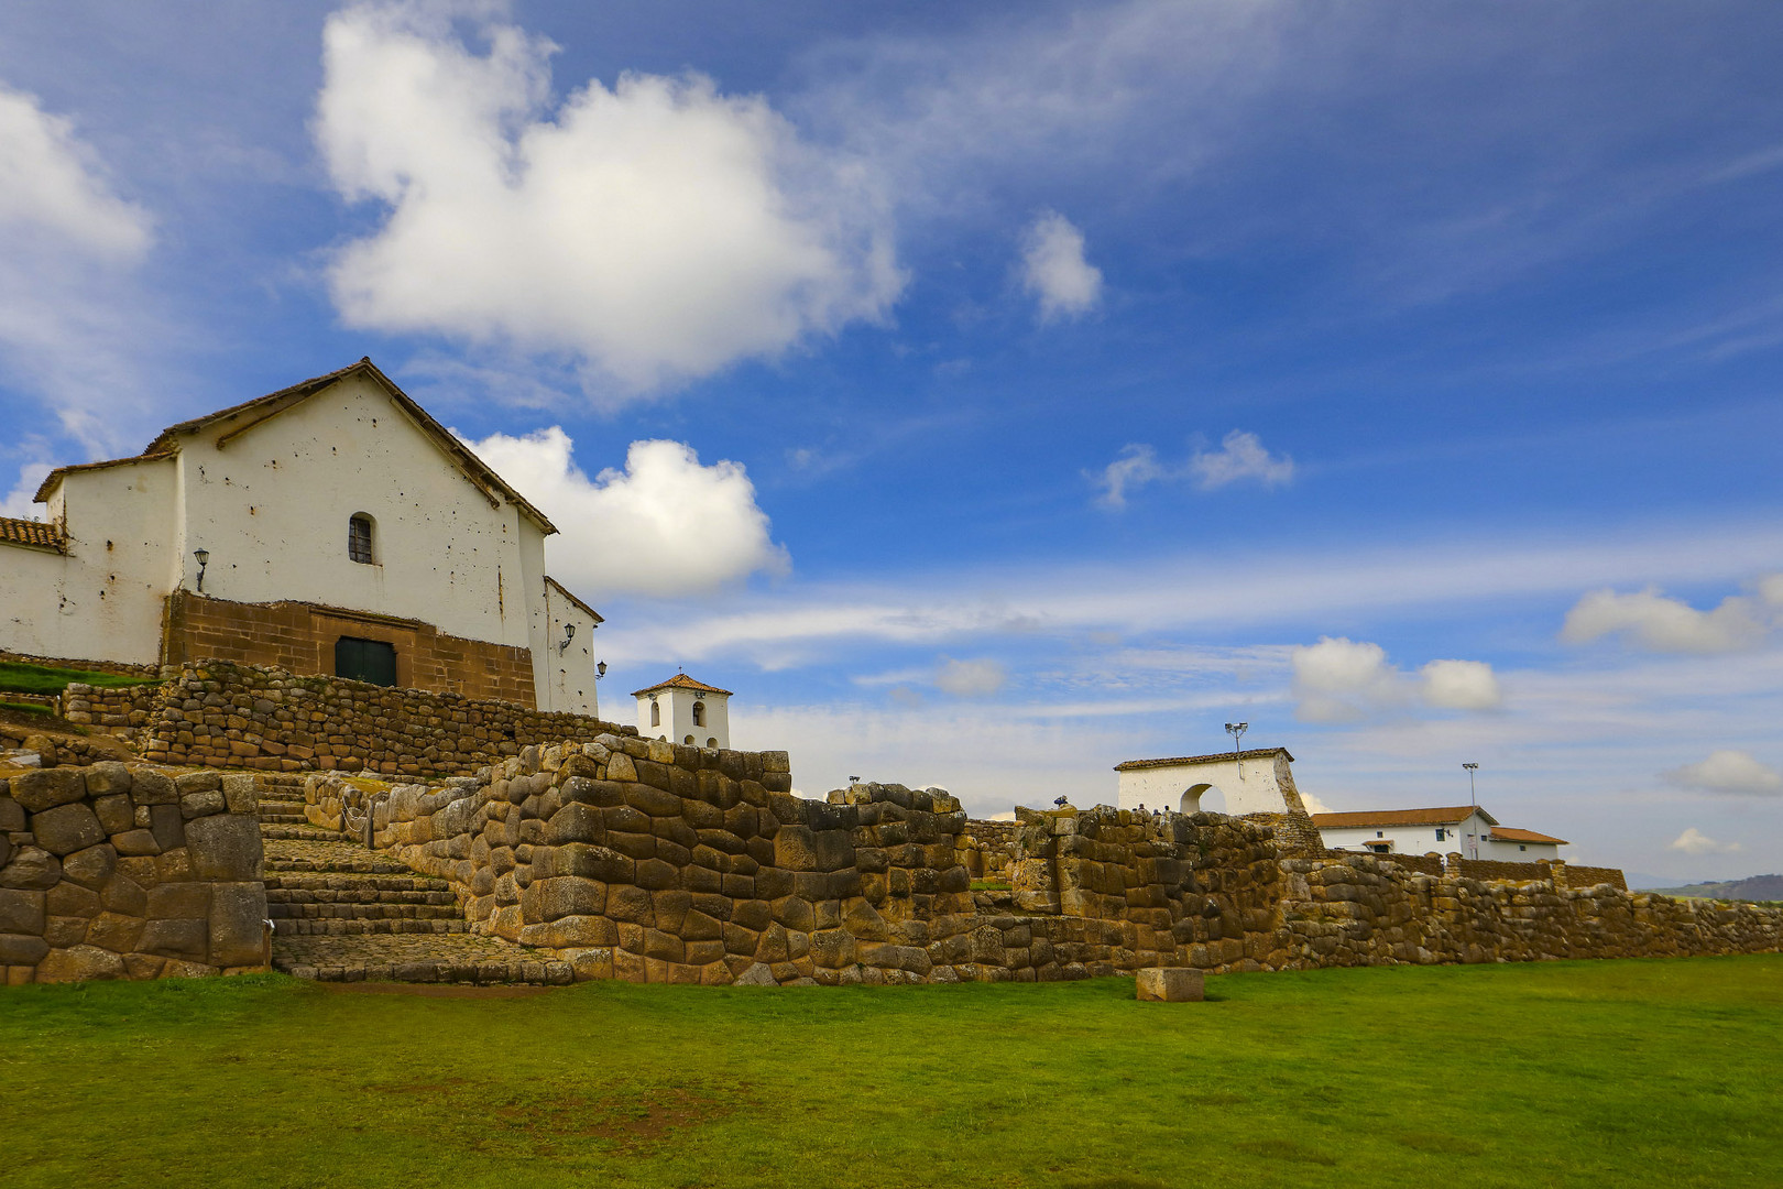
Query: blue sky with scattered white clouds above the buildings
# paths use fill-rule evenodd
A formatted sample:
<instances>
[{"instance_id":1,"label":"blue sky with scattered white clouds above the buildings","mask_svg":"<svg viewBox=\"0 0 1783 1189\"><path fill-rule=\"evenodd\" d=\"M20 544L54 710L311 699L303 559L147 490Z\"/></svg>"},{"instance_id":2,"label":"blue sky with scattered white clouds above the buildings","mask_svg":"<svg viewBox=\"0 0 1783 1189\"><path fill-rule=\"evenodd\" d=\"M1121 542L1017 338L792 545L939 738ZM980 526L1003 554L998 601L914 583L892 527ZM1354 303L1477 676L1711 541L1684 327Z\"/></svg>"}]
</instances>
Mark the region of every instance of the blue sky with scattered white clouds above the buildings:
<instances>
[{"instance_id":1,"label":"blue sky with scattered white clouds above the buildings","mask_svg":"<svg viewBox=\"0 0 1783 1189\"><path fill-rule=\"evenodd\" d=\"M0 497L371 355L553 519L608 713L970 809L1783 866L1774 4L36 4Z\"/></svg>"}]
</instances>

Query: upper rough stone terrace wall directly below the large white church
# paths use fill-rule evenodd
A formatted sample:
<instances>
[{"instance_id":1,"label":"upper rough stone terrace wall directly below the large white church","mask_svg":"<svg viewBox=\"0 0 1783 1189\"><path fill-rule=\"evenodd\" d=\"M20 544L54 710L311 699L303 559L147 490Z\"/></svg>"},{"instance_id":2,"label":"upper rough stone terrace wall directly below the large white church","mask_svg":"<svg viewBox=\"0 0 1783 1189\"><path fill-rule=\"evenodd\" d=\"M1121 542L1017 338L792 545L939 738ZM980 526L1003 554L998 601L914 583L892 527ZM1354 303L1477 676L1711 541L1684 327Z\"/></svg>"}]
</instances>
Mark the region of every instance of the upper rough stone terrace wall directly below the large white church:
<instances>
[{"instance_id":1,"label":"upper rough stone terrace wall directly below the large white church","mask_svg":"<svg viewBox=\"0 0 1783 1189\"><path fill-rule=\"evenodd\" d=\"M376 775L467 775L535 740L635 734L583 715L344 677L203 661L159 688L143 733L155 763Z\"/></svg>"}]
</instances>

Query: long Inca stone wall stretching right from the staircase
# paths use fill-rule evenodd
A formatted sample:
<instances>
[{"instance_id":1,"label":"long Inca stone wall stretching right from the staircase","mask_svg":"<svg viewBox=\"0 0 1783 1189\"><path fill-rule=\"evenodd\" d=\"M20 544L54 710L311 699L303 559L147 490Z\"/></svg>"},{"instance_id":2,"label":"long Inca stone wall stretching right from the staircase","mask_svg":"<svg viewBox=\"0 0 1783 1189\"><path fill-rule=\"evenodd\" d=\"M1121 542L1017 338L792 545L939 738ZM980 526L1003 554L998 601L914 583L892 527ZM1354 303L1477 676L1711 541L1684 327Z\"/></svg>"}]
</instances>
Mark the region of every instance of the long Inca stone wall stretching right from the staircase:
<instances>
[{"instance_id":1,"label":"long Inca stone wall stretching right from the staircase","mask_svg":"<svg viewBox=\"0 0 1783 1189\"><path fill-rule=\"evenodd\" d=\"M474 929L578 977L647 982L1052 980L1141 966L1532 961L1783 948L1783 913L1407 870L1305 845L1262 815L1018 811L1013 890L972 893L945 793L792 797L783 752L606 734L478 777L305 784L316 825L364 829L446 879ZM1316 836L1316 834L1312 834ZM1512 865L1524 866L1524 865Z\"/></svg>"}]
</instances>

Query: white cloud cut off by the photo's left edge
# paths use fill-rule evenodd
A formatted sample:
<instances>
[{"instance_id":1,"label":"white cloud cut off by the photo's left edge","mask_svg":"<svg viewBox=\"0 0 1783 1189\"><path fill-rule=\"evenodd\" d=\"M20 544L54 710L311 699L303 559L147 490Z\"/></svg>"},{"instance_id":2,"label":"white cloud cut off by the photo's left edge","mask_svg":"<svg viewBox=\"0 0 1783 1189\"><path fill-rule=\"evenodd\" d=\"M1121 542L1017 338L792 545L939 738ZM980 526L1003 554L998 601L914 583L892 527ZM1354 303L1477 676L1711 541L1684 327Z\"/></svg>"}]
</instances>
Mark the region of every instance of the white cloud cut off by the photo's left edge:
<instances>
[{"instance_id":1,"label":"white cloud cut off by the photo's left edge","mask_svg":"<svg viewBox=\"0 0 1783 1189\"><path fill-rule=\"evenodd\" d=\"M73 123L37 105L36 96L0 84L0 226L18 235L50 234L107 260L132 262L148 251L148 214L112 193L98 153Z\"/></svg>"}]
</instances>

